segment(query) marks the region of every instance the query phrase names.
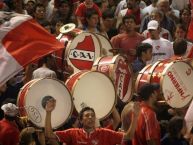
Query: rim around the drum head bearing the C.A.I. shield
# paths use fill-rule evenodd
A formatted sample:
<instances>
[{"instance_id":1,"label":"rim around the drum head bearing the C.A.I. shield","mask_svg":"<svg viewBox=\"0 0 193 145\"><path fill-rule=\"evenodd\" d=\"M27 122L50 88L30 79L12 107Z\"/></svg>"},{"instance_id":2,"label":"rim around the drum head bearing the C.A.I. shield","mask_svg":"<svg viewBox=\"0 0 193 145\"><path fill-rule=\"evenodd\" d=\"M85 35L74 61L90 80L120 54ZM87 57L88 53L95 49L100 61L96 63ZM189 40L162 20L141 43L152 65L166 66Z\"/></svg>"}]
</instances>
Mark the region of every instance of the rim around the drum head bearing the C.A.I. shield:
<instances>
[{"instance_id":1,"label":"rim around the drum head bearing the C.A.I. shield","mask_svg":"<svg viewBox=\"0 0 193 145\"><path fill-rule=\"evenodd\" d=\"M100 50L99 50L99 56L101 56L101 54L102 54L102 44L101 44L99 38L97 37L97 35L94 34L94 33L84 32L84 31L83 31L81 34L91 34L91 35L93 35L93 36L97 39L97 41L99 42L98 44L99 44L99 48L100 48ZM78 36L80 36L81 34L79 34ZM76 37L77 37L77 36L76 36ZM76 37L75 37L75 38L76 38ZM75 38L74 38L74 39L75 39ZM71 41L71 43L73 43L74 39ZM68 56L69 56L69 53L70 53L70 50L71 50L70 48L71 48L71 47L70 47L70 44L69 44L68 49L66 49L66 50L68 50L68 51L66 52L66 61L68 62L69 65L71 65L73 68L76 69L76 70L75 70L76 72L77 72L77 71L81 71L81 70L79 70L76 66L74 66L74 65L72 64L71 60L70 60L69 57L68 57ZM95 57L96 57L96 55L95 55ZM95 60L96 60L96 59L97 59L97 58L95 58ZM94 61L95 61L95 60L94 60ZM94 64L94 61L93 61L93 64ZM93 65L93 64L92 64L92 65ZM91 68L91 69L92 69L92 68Z\"/></svg>"}]
</instances>

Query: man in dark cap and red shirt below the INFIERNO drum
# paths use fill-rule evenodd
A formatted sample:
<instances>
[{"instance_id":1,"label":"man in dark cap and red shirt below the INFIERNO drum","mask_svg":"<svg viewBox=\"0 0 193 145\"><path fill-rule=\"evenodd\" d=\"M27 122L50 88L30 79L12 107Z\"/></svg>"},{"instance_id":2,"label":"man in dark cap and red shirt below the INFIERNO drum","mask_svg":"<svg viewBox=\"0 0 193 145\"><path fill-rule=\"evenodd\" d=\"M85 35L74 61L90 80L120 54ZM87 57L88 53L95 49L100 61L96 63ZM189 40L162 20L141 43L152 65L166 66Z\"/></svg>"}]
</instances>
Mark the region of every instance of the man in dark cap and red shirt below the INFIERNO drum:
<instances>
[{"instance_id":1,"label":"man in dark cap and red shirt below the INFIERNO drum","mask_svg":"<svg viewBox=\"0 0 193 145\"><path fill-rule=\"evenodd\" d=\"M141 111L132 145L160 145L160 127L154 112L157 102L158 84L144 84L139 89Z\"/></svg>"}]
</instances>

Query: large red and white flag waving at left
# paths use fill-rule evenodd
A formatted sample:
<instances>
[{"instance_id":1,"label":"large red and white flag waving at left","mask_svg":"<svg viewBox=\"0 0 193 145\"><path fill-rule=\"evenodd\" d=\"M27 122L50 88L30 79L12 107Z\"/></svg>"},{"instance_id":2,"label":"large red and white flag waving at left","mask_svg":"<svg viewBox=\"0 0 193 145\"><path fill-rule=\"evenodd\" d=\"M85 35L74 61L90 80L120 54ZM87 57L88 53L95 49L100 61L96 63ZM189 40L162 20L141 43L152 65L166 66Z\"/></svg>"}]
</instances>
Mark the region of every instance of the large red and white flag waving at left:
<instances>
[{"instance_id":1,"label":"large red and white flag waving at left","mask_svg":"<svg viewBox=\"0 0 193 145\"><path fill-rule=\"evenodd\" d=\"M64 46L29 15L0 12L0 84Z\"/></svg>"}]
</instances>

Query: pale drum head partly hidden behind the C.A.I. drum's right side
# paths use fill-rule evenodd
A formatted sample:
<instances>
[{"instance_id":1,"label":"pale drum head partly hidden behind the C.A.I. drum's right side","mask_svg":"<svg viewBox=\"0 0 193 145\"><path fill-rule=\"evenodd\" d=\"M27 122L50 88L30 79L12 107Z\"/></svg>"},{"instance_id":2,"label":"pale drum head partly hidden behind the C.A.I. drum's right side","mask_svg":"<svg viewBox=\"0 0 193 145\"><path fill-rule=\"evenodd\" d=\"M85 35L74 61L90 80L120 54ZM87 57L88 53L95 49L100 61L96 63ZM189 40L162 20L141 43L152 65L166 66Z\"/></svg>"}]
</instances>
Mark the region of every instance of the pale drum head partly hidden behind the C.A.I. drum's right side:
<instances>
[{"instance_id":1,"label":"pale drum head partly hidden behind the C.A.I. drum's right side","mask_svg":"<svg viewBox=\"0 0 193 145\"><path fill-rule=\"evenodd\" d=\"M109 50L113 49L110 41L105 36L103 36L101 34L96 33L96 35L99 38L100 43L102 45L102 47L101 47L102 56L107 56L107 55L113 56L113 53L109 51Z\"/></svg>"}]
</instances>

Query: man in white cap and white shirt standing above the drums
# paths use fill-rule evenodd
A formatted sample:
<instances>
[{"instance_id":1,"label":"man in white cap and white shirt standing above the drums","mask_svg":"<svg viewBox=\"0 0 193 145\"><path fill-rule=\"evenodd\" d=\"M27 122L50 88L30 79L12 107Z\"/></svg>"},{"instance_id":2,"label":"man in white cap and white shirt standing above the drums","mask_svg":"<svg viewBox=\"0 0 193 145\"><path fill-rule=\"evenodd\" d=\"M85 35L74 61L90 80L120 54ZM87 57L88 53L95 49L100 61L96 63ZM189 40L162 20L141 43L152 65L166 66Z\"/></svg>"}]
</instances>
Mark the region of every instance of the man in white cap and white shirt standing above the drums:
<instances>
[{"instance_id":1,"label":"man in white cap and white shirt standing above the drums","mask_svg":"<svg viewBox=\"0 0 193 145\"><path fill-rule=\"evenodd\" d=\"M151 20L148 23L148 31L150 38L142 43L149 43L153 46L153 57L148 63L155 63L158 60L169 59L173 56L172 43L159 36L159 23L156 20Z\"/></svg>"}]
</instances>

